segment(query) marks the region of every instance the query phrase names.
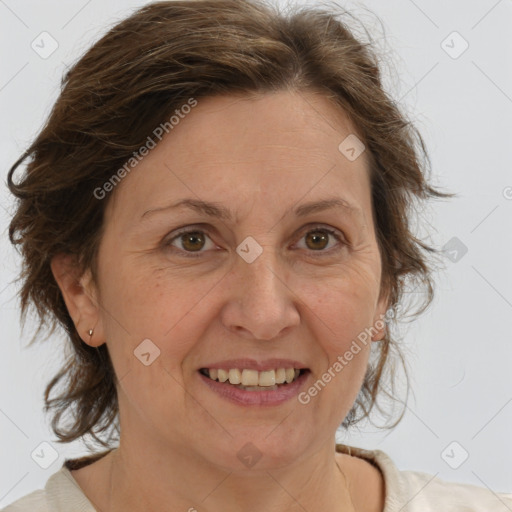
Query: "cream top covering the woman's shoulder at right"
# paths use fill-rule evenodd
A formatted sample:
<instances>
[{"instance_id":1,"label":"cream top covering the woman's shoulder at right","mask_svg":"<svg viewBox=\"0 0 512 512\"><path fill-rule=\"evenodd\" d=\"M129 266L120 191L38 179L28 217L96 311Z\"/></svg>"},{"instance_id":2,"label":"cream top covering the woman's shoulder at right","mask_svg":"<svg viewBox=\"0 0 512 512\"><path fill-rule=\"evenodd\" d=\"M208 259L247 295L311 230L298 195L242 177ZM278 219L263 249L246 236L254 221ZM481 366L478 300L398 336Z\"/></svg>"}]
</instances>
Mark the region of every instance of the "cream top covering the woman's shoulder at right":
<instances>
[{"instance_id":1,"label":"cream top covering the woman's shoulder at right","mask_svg":"<svg viewBox=\"0 0 512 512\"><path fill-rule=\"evenodd\" d=\"M512 494L485 487L447 482L436 475L401 471L380 450L338 445L342 453L365 459L382 473L385 488L383 512L510 512Z\"/></svg>"}]
</instances>

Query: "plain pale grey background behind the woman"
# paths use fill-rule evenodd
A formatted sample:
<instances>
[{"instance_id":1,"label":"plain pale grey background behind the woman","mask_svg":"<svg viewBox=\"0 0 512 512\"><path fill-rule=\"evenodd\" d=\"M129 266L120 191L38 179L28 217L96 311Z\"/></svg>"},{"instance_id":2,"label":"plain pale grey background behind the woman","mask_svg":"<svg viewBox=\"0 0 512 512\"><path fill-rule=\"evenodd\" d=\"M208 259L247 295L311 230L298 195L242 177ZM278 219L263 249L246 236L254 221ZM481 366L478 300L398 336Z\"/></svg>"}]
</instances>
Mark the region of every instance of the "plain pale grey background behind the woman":
<instances>
[{"instance_id":1,"label":"plain pale grey background behind the woman","mask_svg":"<svg viewBox=\"0 0 512 512\"><path fill-rule=\"evenodd\" d=\"M63 340L26 348L34 323L21 332L5 176L41 128L65 67L145 3L0 0L0 507L85 453L81 443L56 443L42 412ZM418 233L446 257L433 305L401 327L412 387L404 419L392 431L363 424L339 440L383 450L401 469L512 492L512 2L339 4L376 39L386 87L427 143L433 184L458 194L419 216ZM53 453L43 442L56 452L46 469L31 457Z\"/></svg>"}]
</instances>

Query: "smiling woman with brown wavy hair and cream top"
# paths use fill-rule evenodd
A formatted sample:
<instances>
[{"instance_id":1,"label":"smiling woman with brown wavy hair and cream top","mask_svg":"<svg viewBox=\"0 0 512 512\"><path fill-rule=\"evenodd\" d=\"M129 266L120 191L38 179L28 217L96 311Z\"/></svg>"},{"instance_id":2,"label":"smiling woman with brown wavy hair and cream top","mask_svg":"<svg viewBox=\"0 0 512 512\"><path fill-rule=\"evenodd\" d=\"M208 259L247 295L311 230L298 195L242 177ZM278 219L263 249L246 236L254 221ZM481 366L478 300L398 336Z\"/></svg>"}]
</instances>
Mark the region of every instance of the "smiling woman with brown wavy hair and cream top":
<instances>
[{"instance_id":1,"label":"smiling woman with brown wavy hair and cream top","mask_svg":"<svg viewBox=\"0 0 512 512\"><path fill-rule=\"evenodd\" d=\"M173 1L114 27L8 176L23 311L74 349L54 431L108 450L6 510L512 509L335 443L383 392L404 280L432 298L409 209L448 194L422 150L332 13Z\"/></svg>"}]
</instances>

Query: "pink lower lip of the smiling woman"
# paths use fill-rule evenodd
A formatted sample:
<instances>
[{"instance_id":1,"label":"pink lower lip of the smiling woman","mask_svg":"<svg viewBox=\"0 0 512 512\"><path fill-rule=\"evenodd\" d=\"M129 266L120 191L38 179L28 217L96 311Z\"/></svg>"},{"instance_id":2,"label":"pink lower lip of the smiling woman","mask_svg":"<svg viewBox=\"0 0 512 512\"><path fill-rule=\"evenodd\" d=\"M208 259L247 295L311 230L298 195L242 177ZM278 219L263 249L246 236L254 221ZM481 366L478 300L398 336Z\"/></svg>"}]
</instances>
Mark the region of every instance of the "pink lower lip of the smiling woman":
<instances>
[{"instance_id":1,"label":"pink lower lip of the smiling woman","mask_svg":"<svg viewBox=\"0 0 512 512\"><path fill-rule=\"evenodd\" d=\"M299 377L291 382L279 386L273 391L246 391L206 377L198 372L203 382L215 393L221 397L239 405L278 405L296 397L299 389L303 386L304 381L308 378L309 371L299 375Z\"/></svg>"}]
</instances>

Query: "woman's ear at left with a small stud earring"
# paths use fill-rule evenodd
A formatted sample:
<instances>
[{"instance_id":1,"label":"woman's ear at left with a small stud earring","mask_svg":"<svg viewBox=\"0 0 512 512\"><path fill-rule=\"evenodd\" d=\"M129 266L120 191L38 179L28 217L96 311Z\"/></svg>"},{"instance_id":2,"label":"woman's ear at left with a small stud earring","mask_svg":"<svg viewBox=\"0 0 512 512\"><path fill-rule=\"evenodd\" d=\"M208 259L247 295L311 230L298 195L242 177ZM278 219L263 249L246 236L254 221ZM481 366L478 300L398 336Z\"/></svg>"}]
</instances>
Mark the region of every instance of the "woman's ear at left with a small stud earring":
<instances>
[{"instance_id":1,"label":"woman's ear at left with a small stud earring","mask_svg":"<svg viewBox=\"0 0 512 512\"><path fill-rule=\"evenodd\" d=\"M79 336L91 347L102 345L105 336L91 271L81 273L72 254L54 256L51 269Z\"/></svg>"}]
</instances>

